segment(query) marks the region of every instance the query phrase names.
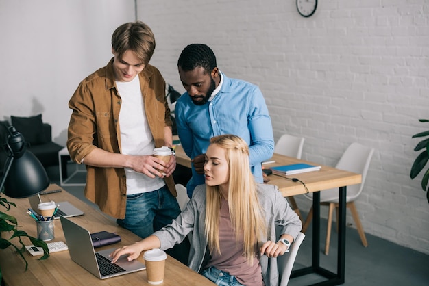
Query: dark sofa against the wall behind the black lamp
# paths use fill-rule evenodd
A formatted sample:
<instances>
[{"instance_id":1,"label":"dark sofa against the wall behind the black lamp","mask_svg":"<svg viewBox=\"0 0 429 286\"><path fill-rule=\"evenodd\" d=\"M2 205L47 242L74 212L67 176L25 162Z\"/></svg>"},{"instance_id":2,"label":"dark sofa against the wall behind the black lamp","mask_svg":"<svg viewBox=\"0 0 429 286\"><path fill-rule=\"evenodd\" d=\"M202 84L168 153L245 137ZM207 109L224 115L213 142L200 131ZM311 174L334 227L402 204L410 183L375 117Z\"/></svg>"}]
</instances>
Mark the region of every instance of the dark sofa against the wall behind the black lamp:
<instances>
[{"instance_id":1,"label":"dark sofa against the wall behind the black lamp","mask_svg":"<svg viewBox=\"0 0 429 286\"><path fill-rule=\"evenodd\" d=\"M24 136L25 142L29 143L28 150L45 168L59 164L58 151L64 146L52 141L52 127L48 123L42 122L41 114L27 118L11 116L11 121L16 131L19 131ZM8 157L5 144L9 126L9 121L0 121L0 177L3 176L5 161Z\"/></svg>"}]
</instances>

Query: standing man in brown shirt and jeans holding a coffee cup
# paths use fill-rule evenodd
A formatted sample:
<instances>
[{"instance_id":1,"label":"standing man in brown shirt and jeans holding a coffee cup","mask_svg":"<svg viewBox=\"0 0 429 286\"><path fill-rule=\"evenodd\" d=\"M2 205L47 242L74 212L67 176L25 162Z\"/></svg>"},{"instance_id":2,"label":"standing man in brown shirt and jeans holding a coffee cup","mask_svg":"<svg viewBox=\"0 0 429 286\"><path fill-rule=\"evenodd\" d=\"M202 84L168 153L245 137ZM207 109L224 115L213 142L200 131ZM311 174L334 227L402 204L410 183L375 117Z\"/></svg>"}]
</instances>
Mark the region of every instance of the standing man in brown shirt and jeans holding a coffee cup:
<instances>
[{"instance_id":1,"label":"standing man in brown shirt and jeans holding a coffee cup","mask_svg":"<svg viewBox=\"0 0 429 286\"><path fill-rule=\"evenodd\" d=\"M145 23L119 26L112 35L114 57L69 101L67 148L73 161L86 164L86 198L142 238L180 213L171 176L175 157L165 164L151 156L173 141L165 81L149 64L154 49Z\"/></svg>"}]
</instances>

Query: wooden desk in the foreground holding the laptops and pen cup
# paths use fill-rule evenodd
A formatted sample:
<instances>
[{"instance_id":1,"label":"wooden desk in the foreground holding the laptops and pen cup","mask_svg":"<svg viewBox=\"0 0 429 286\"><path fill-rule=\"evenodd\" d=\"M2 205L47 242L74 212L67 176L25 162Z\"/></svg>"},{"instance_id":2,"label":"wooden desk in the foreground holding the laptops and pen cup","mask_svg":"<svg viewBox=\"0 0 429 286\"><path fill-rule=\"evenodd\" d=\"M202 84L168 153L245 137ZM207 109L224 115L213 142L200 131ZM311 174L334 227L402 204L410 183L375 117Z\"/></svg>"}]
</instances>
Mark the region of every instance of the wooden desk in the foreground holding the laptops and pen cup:
<instances>
[{"instance_id":1,"label":"wooden desk in the foreground holding the laptops and pen cup","mask_svg":"<svg viewBox=\"0 0 429 286\"><path fill-rule=\"evenodd\" d=\"M51 185L48 189L59 189L58 185ZM4 194L2 194L4 196ZM27 215L26 211L29 207L27 198L8 198L8 200L16 203L16 207L11 207L10 211L6 213L15 216L18 220L19 229L26 231L29 235L36 237L36 222L34 219ZM121 242L103 248L119 248L121 246L132 244L140 237L126 229L118 226L107 216L103 215L100 211L90 207L90 205L82 202L75 196L72 196L65 190L62 192L47 194L42 196L43 201L54 200L56 202L69 201L79 209L84 211L84 216L70 218L77 224L88 229L90 233L97 231L110 231L121 235ZM53 241L64 239L62 226L60 220L55 220L55 239ZM10 237L12 233L2 233L3 237ZM15 244L17 239L12 240ZM16 242L15 242L16 241ZM29 239L23 239L25 245L30 244ZM103 249L103 248L97 248ZM3 279L5 285L150 285L147 283L146 271L134 272L122 276L100 280L99 278L87 272L77 263L73 262L70 258L68 251L55 252L47 260L38 260L40 257L33 257L27 250L23 253L28 262L28 269L25 272L25 263L19 255L16 254L14 248L9 247L5 250L0 250L0 267L3 272ZM144 263L143 255L140 255L140 261ZM204 276L194 272L186 265L179 261L168 257L165 265L164 283L166 286L177 285L215 285Z\"/></svg>"}]
</instances>

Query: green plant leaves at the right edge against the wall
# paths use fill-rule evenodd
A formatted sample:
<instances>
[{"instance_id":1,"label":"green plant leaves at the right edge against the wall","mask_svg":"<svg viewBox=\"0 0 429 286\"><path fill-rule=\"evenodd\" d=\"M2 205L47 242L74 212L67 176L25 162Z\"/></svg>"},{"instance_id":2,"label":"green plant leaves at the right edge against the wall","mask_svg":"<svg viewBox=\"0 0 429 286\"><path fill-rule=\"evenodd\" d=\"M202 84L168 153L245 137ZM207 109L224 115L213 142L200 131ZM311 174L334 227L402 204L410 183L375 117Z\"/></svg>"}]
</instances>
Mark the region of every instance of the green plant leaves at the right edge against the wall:
<instances>
[{"instance_id":1,"label":"green plant leaves at the right edge against the wall","mask_svg":"<svg viewBox=\"0 0 429 286\"><path fill-rule=\"evenodd\" d=\"M419 119L420 122L429 122L428 119ZM424 131L413 135L413 138L426 137L429 136L429 131ZM429 160L429 138L421 140L417 146L415 146L414 151L422 151L413 163L411 167L410 177L414 179L417 175L423 170ZM429 191L428 191L428 181L429 181L429 168L426 169L426 172L423 175L423 179L421 179L421 188L426 192L426 199L429 203Z\"/></svg>"}]
</instances>

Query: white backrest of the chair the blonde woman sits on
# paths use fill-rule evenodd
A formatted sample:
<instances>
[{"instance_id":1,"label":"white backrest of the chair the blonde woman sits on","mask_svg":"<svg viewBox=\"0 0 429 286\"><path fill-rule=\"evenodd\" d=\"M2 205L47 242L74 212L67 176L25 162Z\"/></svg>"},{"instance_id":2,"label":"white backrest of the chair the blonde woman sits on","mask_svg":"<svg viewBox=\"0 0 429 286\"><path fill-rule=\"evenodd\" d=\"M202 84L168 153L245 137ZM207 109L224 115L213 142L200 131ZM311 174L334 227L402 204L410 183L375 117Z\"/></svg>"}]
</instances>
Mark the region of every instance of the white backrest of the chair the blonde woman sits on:
<instances>
[{"instance_id":1,"label":"white backrest of the chair the blonde woman sits on","mask_svg":"<svg viewBox=\"0 0 429 286\"><path fill-rule=\"evenodd\" d=\"M279 286L288 285L293 263L295 263L295 258L297 257L299 246L301 246L304 237L306 237L304 233L298 233L297 239L295 239L295 241L291 245L289 252L277 257L277 268L280 278Z\"/></svg>"}]
</instances>

